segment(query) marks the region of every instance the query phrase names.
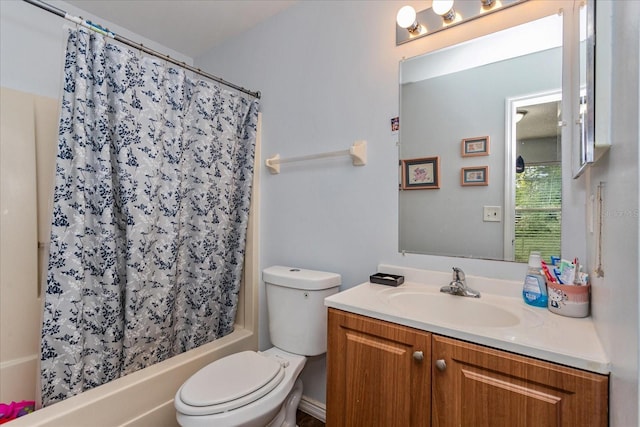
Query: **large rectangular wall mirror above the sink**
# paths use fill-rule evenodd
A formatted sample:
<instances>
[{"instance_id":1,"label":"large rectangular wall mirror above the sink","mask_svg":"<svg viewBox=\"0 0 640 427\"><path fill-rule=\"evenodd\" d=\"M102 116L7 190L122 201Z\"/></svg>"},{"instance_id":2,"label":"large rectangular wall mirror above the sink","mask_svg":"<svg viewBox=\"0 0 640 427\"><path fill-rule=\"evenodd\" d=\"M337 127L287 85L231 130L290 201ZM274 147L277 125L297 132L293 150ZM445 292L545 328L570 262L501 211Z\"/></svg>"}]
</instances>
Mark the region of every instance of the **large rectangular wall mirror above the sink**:
<instances>
[{"instance_id":1,"label":"large rectangular wall mirror above the sink","mask_svg":"<svg viewBox=\"0 0 640 427\"><path fill-rule=\"evenodd\" d=\"M400 63L401 164L438 159L428 165L437 186L401 177L400 252L526 262L522 236L535 245L532 227L543 237L555 227L557 245L536 250L560 255L560 201L530 206L516 189L562 186L562 22L550 16Z\"/></svg>"}]
</instances>

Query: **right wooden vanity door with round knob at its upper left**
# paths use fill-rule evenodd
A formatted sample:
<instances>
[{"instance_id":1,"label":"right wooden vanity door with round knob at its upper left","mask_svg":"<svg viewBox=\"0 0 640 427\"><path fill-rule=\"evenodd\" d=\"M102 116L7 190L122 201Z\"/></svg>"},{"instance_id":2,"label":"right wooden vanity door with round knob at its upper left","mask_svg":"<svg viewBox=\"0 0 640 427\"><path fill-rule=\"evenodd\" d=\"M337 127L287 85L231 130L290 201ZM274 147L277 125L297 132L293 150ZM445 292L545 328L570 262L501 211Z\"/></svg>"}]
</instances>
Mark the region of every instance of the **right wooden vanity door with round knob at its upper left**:
<instances>
[{"instance_id":1,"label":"right wooden vanity door with round knob at its upper left","mask_svg":"<svg viewBox=\"0 0 640 427\"><path fill-rule=\"evenodd\" d=\"M607 426L604 375L435 335L432 355L433 426Z\"/></svg>"}]
</instances>

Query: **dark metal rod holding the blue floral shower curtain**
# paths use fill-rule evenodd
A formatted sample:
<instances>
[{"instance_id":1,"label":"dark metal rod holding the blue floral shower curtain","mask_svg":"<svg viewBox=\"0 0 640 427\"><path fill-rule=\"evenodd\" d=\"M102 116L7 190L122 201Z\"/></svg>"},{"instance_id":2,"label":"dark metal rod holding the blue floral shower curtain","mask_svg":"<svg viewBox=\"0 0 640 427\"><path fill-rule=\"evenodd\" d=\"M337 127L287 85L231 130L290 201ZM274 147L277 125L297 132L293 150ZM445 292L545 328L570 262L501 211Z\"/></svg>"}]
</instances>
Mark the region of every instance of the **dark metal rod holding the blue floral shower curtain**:
<instances>
[{"instance_id":1,"label":"dark metal rod holding the blue floral shower curtain","mask_svg":"<svg viewBox=\"0 0 640 427\"><path fill-rule=\"evenodd\" d=\"M209 73L207 73L205 71L202 71L200 68L192 67L189 64L186 64L184 62L180 62L178 60L173 59L169 55L165 55L163 53L160 53L158 51L150 49L150 48L144 46L142 43L136 43L136 42L134 42L132 40L129 40L126 37L119 36L116 33L110 31L108 28L103 28L100 25L97 25L97 24L95 24L95 23L93 23L91 21L86 21L86 20L82 19L81 17L69 15L64 10L58 9L55 6L51 6L48 3L45 3L45 2L40 1L40 0L23 0L23 1L29 3L29 4L31 4L33 6L39 7L40 9L46 10L47 12L53 13L54 15L58 15L58 16L64 18L64 19L67 19L67 20L69 20L71 22L74 22L74 23L76 23L78 25L81 25L81 26L83 26L85 28L88 28L88 29L90 29L92 31L95 31L96 33L100 33L100 34L102 34L104 36L111 37L112 39L114 39L114 40L116 40L116 41L118 41L120 43L124 43L127 46L130 46L130 47L132 47L134 49L141 50L142 52L145 52L145 53L147 53L149 55L153 55L153 56L155 56L157 58L160 58L160 59L163 59L163 60L165 60L167 62L171 62L172 64L175 64L175 65L177 65L179 67L182 67L182 68L184 68L186 70L189 70L191 72L194 72L196 74L204 76L204 77L206 77L208 79L211 79L211 80L213 80L215 82L218 82L220 84L223 84L225 86L228 86L230 88L238 90L240 92L246 93L247 95L253 96L254 98L260 99L260 96L261 96L260 91L252 92L249 89L245 89L245 88L243 88L241 86L234 85L233 83L230 83L230 82L228 82L228 81L226 81L226 80L224 80L224 79L222 79L220 77L217 77L217 76L209 74Z\"/></svg>"}]
</instances>

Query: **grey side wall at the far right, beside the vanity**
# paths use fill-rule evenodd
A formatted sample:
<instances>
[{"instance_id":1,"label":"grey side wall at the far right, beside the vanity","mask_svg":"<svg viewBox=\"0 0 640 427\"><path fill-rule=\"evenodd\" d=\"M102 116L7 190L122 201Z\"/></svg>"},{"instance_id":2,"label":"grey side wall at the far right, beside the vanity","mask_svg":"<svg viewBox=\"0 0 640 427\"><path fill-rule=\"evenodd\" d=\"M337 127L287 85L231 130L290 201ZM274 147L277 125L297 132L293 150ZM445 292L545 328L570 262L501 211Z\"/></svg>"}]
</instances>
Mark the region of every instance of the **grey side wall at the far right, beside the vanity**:
<instances>
[{"instance_id":1,"label":"grey side wall at the far right, beside the vanity","mask_svg":"<svg viewBox=\"0 0 640 427\"><path fill-rule=\"evenodd\" d=\"M604 277L592 275L593 317L611 358L611 425L640 425L638 337L638 160L640 105L640 1L612 1L611 149L590 170L590 195L602 185L602 236L597 219L588 233L589 263L602 262ZM616 29L622 29L616 31ZM597 120L597 118L596 118ZM597 209L597 205L595 206ZM597 212L597 211L596 211ZM597 217L597 215L596 215ZM600 257L599 254L602 256Z\"/></svg>"}]
</instances>

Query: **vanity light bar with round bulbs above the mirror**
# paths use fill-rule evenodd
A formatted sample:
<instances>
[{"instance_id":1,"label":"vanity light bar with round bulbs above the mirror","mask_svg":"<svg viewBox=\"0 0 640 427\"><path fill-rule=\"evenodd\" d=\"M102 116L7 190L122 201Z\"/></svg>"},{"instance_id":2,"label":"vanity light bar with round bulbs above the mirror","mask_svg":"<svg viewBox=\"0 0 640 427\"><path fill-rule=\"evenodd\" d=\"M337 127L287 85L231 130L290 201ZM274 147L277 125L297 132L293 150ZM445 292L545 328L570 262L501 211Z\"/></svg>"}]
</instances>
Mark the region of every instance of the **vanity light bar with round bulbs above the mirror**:
<instances>
[{"instance_id":1,"label":"vanity light bar with round bulbs above the mirror","mask_svg":"<svg viewBox=\"0 0 640 427\"><path fill-rule=\"evenodd\" d=\"M416 11L411 6L400 8L396 15L396 45L419 39L528 0L433 0L429 9Z\"/></svg>"}]
</instances>

